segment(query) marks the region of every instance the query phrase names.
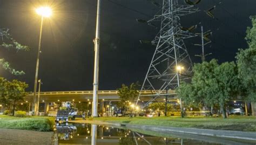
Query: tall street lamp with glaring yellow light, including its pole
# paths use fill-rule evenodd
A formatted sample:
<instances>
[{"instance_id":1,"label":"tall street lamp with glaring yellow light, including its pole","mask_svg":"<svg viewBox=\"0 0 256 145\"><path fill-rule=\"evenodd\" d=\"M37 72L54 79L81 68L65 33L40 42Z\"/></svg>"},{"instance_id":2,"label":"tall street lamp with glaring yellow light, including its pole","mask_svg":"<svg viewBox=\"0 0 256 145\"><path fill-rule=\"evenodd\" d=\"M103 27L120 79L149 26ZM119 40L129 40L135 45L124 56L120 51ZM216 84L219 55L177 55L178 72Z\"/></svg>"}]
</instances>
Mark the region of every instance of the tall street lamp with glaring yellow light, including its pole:
<instances>
[{"instance_id":1,"label":"tall street lamp with glaring yellow light, including its pole","mask_svg":"<svg viewBox=\"0 0 256 145\"><path fill-rule=\"evenodd\" d=\"M41 52L41 38L42 38L42 30L43 30L43 20L44 17L49 18L52 15L52 10L48 6L41 6L36 9L36 13L41 16L41 26L39 33L39 43L38 43L38 52L37 52L37 61L36 61L36 74L35 74L35 84L34 84L34 93L33 93L33 111L36 111L36 90L37 90L37 77L38 77L38 67L39 67L39 56Z\"/></svg>"}]
</instances>

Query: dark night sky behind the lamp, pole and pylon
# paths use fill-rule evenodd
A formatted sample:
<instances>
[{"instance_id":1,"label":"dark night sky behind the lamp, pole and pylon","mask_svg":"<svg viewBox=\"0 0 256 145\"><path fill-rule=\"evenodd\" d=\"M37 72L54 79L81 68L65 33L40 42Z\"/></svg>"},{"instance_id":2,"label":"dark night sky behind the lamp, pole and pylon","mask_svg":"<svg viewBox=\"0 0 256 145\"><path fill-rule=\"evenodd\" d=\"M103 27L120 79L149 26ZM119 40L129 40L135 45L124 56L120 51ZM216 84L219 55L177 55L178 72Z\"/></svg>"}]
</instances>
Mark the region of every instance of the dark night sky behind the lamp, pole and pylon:
<instances>
[{"instance_id":1,"label":"dark night sky behind the lamp, pole and pylon","mask_svg":"<svg viewBox=\"0 0 256 145\"><path fill-rule=\"evenodd\" d=\"M1 49L1 58L26 73L14 76L0 68L1 76L26 81L28 91L33 90L41 20L35 8L42 4L53 8L53 16L45 19L43 26L39 65L42 91L92 90L96 0L0 0L0 27L8 27L14 39L31 47L29 52ZM204 12L213 5L217 6L213 13L218 20ZM233 61L238 49L247 47L245 31L251 26L249 16L256 15L256 1L205 0L197 6L201 11L181 17L181 25L201 22L205 30L212 30L213 43L205 51L213 54L207 60ZM158 10L149 0L102 0L100 90L143 82L155 46L140 44L139 40L152 40L158 30L136 22L136 18L150 19ZM199 27L197 31L200 32ZM185 40L193 63L200 62L194 55L201 53L201 49L192 45L199 42L200 38Z\"/></svg>"}]
</instances>

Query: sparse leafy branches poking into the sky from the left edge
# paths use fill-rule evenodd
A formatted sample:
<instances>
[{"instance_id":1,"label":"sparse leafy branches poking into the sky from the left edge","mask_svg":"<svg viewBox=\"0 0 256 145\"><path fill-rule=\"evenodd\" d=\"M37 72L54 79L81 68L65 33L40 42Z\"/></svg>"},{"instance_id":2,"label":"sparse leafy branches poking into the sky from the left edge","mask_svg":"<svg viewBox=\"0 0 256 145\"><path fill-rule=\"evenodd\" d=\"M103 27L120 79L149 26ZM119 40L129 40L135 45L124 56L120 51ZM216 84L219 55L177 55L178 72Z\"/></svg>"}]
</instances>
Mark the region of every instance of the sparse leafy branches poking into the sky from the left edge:
<instances>
[{"instance_id":1,"label":"sparse leafy branches poking into the sky from the left edge","mask_svg":"<svg viewBox=\"0 0 256 145\"><path fill-rule=\"evenodd\" d=\"M8 31L9 29L0 28L0 47L4 47L5 49L15 49L17 51L30 50L28 46L23 46L19 44L15 39L13 39L11 34ZM5 61L4 58L0 58L0 65L2 65L4 70L8 70L11 74L14 74L14 75L25 74L23 71L16 71L14 68L11 68L10 63L8 63L8 61Z\"/></svg>"}]
</instances>

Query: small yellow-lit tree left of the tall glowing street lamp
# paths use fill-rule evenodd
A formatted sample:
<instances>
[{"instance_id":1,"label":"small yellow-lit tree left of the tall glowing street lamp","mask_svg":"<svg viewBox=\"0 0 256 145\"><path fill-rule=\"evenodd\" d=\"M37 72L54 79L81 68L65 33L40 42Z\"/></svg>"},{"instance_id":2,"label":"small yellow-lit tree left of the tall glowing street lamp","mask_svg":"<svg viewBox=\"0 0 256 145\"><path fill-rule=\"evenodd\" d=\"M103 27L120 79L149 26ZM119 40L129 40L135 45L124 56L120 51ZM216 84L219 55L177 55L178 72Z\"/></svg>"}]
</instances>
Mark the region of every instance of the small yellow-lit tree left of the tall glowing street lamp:
<instances>
[{"instance_id":1,"label":"small yellow-lit tree left of the tall glowing street lamp","mask_svg":"<svg viewBox=\"0 0 256 145\"><path fill-rule=\"evenodd\" d=\"M25 82L21 82L18 80L12 80L8 81L6 83L6 100L9 100L12 102L12 115L15 114L15 105L17 101L23 101L24 96L26 96L28 93L25 91L25 89L28 87L28 84Z\"/></svg>"}]
</instances>

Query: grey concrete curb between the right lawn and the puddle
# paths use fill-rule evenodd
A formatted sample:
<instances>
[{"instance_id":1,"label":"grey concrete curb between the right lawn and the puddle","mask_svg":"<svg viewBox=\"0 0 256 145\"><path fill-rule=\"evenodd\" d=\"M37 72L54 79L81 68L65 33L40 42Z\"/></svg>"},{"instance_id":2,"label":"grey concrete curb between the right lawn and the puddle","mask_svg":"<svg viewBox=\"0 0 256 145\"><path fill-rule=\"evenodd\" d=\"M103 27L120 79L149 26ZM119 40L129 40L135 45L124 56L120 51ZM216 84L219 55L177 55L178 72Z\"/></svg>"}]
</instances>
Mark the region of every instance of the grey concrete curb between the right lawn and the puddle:
<instances>
[{"instance_id":1,"label":"grey concrete curb between the right lawn and the puddle","mask_svg":"<svg viewBox=\"0 0 256 145\"><path fill-rule=\"evenodd\" d=\"M149 125L132 125L129 123L121 123L121 126L127 128L140 128L143 130L152 130L155 132L176 132L195 135L205 135L214 137L224 137L228 139L240 139L256 141L256 133L239 132L231 130L213 130L213 129L197 129L197 128L180 128L180 127L163 127L163 126L149 126Z\"/></svg>"}]
</instances>

